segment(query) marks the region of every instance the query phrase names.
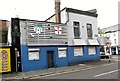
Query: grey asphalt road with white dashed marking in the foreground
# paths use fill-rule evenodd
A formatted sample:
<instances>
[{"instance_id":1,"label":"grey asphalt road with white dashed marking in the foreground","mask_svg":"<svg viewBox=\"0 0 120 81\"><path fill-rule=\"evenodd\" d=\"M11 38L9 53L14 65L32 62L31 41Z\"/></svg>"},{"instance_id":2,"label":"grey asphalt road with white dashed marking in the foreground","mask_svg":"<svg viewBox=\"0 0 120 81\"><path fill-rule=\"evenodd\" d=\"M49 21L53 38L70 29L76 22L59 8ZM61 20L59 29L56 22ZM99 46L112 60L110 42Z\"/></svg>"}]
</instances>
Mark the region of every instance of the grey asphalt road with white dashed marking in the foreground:
<instances>
[{"instance_id":1,"label":"grey asphalt road with white dashed marking in the foreground","mask_svg":"<svg viewBox=\"0 0 120 81\"><path fill-rule=\"evenodd\" d=\"M116 58L114 58L116 59ZM75 70L64 73L56 73L43 77L36 77L37 79L118 79L118 68L120 62L108 63L106 65L95 65L81 70Z\"/></svg>"}]
</instances>

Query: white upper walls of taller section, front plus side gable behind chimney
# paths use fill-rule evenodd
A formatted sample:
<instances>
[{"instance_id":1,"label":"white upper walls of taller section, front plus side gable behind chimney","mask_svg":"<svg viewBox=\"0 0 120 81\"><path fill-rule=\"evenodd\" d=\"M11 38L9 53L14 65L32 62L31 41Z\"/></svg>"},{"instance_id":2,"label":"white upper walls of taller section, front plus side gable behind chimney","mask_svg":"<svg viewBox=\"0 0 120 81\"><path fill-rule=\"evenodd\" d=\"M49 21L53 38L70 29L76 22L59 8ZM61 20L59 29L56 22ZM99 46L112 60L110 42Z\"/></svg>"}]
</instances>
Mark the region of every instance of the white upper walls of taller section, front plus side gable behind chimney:
<instances>
[{"instance_id":1,"label":"white upper walls of taller section, front plus side gable behind chimney","mask_svg":"<svg viewBox=\"0 0 120 81\"><path fill-rule=\"evenodd\" d=\"M55 15L50 17L48 22L55 22ZM80 37L79 39L74 38L74 27L73 27L73 22L79 22L80 24ZM88 16L88 15L83 15L80 13L74 13L74 12L67 12L66 9L63 9L61 11L61 23L67 23L67 36L68 36L68 45L77 45L78 42L76 43L75 40L79 41L79 44L82 45L83 41L88 45L88 37L87 37L87 23L92 24L92 33L93 33L93 40L97 40L98 36L98 23L97 23L97 17L93 16ZM80 43L80 41L82 41Z\"/></svg>"}]
</instances>

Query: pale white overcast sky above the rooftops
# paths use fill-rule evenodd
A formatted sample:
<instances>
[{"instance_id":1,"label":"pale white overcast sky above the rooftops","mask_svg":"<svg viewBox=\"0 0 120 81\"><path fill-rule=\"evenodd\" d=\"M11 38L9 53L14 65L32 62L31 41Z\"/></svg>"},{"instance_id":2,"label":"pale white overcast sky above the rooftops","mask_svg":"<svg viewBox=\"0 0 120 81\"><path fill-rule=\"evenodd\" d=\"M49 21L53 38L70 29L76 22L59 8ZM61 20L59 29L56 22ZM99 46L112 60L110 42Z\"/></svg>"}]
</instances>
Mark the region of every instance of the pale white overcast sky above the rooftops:
<instances>
[{"instance_id":1,"label":"pale white overcast sky above the rooftops","mask_svg":"<svg viewBox=\"0 0 120 81\"><path fill-rule=\"evenodd\" d=\"M78 10L97 9L98 27L105 28L118 23L118 2L120 0L60 0L64 7ZM0 19L12 17L44 21L55 13L54 0L1 0Z\"/></svg>"}]
</instances>

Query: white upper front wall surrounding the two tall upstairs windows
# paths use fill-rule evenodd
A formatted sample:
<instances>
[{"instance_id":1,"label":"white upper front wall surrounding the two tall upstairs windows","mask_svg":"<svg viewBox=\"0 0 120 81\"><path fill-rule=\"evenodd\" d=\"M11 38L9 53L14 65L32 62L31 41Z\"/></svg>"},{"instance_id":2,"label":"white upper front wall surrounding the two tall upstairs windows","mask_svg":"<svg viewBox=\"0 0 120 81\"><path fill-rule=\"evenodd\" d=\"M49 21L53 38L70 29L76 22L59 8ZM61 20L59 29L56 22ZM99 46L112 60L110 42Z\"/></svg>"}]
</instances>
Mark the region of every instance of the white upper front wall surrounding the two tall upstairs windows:
<instances>
[{"instance_id":1,"label":"white upper front wall surrounding the two tall upstairs windows","mask_svg":"<svg viewBox=\"0 0 120 81\"><path fill-rule=\"evenodd\" d=\"M68 25L68 43L73 44L74 41L74 29L73 29L73 22L80 23L80 38L87 40L87 23L92 24L92 31L93 31L93 39L96 39L95 35L98 35L98 25L97 25L97 18L91 17L82 14L76 14L69 12L69 22Z\"/></svg>"}]
</instances>

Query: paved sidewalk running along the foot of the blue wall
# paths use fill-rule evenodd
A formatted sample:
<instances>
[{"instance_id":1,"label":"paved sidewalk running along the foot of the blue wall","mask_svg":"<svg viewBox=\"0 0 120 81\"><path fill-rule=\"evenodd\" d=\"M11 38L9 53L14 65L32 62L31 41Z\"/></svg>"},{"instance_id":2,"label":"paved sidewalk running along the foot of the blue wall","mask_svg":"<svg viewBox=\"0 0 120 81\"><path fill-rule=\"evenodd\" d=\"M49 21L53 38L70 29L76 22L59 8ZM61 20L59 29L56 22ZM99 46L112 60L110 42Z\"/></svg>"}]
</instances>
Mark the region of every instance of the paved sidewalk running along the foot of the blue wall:
<instances>
[{"instance_id":1,"label":"paved sidewalk running along the foot of the blue wall","mask_svg":"<svg viewBox=\"0 0 120 81\"><path fill-rule=\"evenodd\" d=\"M69 71L80 70L80 69L89 68L93 66L101 66L104 64L109 64L109 63L114 63L114 62L115 62L114 60L111 60L111 62L108 62L108 60L100 60L100 61L84 62L84 63L73 65L73 66L49 68L49 69L29 71L29 72L3 74L2 79L5 79L5 80L29 79L29 78L37 77L37 76L46 76L46 75L55 74L55 73L69 72Z\"/></svg>"}]
</instances>

